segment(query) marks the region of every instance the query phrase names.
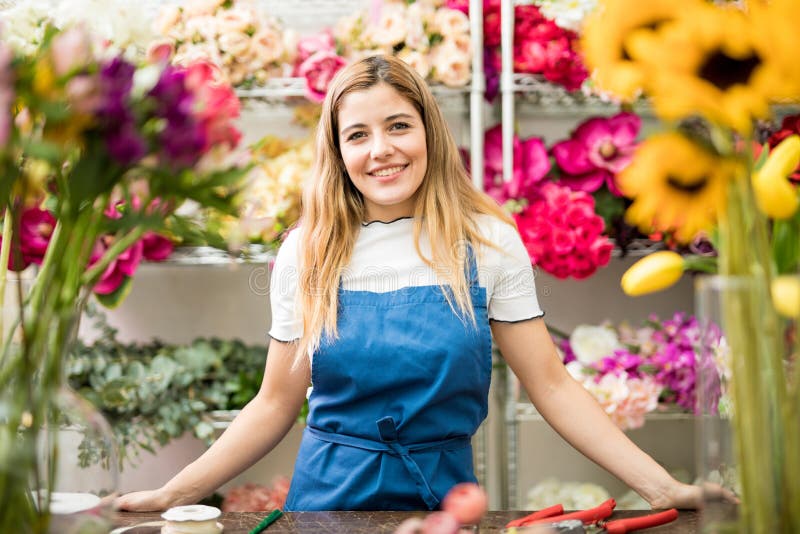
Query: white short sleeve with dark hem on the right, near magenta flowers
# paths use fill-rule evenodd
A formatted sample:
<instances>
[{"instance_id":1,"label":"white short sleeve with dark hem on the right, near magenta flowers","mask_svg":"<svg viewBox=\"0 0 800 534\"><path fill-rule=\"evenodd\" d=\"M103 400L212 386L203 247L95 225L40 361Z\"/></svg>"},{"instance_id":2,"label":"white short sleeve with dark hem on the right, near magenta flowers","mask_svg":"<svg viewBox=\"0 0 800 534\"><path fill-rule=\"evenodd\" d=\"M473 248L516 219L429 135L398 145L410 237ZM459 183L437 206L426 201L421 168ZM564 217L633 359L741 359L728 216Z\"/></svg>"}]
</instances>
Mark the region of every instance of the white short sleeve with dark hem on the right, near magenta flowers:
<instances>
[{"instance_id":1,"label":"white short sleeve with dark hem on the right, near magenta flowers","mask_svg":"<svg viewBox=\"0 0 800 534\"><path fill-rule=\"evenodd\" d=\"M489 235L497 246L484 248L487 272L481 273L486 278L489 319L519 322L542 317L531 259L517 229L494 219Z\"/></svg>"}]
</instances>

